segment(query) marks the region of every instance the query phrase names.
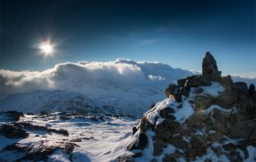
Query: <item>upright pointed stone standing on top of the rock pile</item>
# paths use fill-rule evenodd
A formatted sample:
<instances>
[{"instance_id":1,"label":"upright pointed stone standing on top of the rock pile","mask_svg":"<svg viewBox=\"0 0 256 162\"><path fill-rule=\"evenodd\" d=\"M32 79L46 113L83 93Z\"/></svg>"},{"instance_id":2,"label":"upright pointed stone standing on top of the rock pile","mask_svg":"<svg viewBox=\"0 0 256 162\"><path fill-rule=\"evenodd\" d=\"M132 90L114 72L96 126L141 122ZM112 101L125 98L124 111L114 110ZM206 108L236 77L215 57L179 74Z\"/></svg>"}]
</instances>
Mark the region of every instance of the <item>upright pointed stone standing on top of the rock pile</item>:
<instances>
[{"instance_id":1,"label":"upright pointed stone standing on top of the rock pile","mask_svg":"<svg viewBox=\"0 0 256 162\"><path fill-rule=\"evenodd\" d=\"M209 80L213 79L214 77L221 76L221 72L218 70L217 62L209 52L206 53L206 56L203 59L202 75Z\"/></svg>"}]
</instances>

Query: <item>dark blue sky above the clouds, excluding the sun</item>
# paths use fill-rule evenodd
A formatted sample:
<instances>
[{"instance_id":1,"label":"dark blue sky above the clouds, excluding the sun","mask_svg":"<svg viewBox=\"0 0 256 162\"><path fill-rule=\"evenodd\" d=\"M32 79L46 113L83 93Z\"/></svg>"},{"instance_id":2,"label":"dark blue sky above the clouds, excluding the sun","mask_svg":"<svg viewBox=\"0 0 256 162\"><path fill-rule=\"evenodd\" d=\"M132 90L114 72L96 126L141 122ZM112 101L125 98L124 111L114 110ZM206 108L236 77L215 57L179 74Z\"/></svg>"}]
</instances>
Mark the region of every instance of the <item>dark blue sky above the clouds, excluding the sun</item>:
<instances>
[{"instance_id":1,"label":"dark blue sky above the clouds, excluding the sun","mask_svg":"<svg viewBox=\"0 0 256 162\"><path fill-rule=\"evenodd\" d=\"M1 0L0 68L42 70L115 58L200 70L210 51L224 73L256 75L254 0ZM50 39L53 56L37 45Z\"/></svg>"}]
</instances>

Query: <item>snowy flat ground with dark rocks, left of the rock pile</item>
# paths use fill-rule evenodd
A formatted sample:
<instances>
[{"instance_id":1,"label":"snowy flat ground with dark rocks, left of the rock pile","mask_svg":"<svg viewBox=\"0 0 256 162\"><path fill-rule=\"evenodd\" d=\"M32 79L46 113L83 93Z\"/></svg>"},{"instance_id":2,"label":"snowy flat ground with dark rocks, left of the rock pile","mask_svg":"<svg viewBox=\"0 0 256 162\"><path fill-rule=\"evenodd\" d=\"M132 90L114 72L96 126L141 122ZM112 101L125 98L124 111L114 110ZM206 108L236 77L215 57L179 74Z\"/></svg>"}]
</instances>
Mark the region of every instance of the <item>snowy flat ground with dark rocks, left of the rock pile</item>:
<instances>
[{"instance_id":1,"label":"snowy flat ground with dark rocks, left of the rock pile","mask_svg":"<svg viewBox=\"0 0 256 162\"><path fill-rule=\"evenodd\" d=\"M130 139L133 116L0 113L0 161L114 161Z\"/></svg>"}]
</instances>

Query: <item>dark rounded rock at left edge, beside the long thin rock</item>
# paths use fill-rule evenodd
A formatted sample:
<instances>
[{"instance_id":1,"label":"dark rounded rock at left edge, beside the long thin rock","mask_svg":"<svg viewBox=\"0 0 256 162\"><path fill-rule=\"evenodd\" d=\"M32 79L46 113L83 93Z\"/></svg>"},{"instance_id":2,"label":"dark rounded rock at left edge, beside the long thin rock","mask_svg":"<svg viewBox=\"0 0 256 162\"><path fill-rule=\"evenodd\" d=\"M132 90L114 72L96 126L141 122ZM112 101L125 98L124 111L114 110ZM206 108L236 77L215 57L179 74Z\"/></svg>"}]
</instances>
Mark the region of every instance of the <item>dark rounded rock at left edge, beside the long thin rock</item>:
<instances>
[{"instance_id":1,"label":"dark rounded rock at left edge, beside the long thin rock","mask_svg":"<svg viewBox=\"0 0 256 162\"><path fill-rule=\"evenodd\" d=\"M8 138L24 138L28 137L28 133L20 127L13 125L2 125L0 126L0 134Z\"/></svg>"}]
</instances>

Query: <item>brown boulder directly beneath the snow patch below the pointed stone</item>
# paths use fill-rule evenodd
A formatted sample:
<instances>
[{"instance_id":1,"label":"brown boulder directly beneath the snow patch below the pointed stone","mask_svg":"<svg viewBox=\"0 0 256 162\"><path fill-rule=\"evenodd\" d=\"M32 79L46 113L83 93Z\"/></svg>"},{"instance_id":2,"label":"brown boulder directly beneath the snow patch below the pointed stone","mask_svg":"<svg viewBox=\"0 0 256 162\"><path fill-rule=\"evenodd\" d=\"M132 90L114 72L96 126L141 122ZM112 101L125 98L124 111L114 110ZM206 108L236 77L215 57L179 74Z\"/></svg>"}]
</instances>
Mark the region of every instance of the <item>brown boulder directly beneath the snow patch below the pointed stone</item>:
<instances>
[{"instance_id":1,"label":"brown boulder directly beneath the snow patch below the pointed stone","mask_svg":"<svg viewBox=\"0 0 256 162\"><path fill-rule=\"evenodd\" d=\"M210 95L196 96L194 103L195 103L196 110L205 110L208 108L208 106L211 106L214 104L214 97Z\"/></svg>"}]
</instances>

